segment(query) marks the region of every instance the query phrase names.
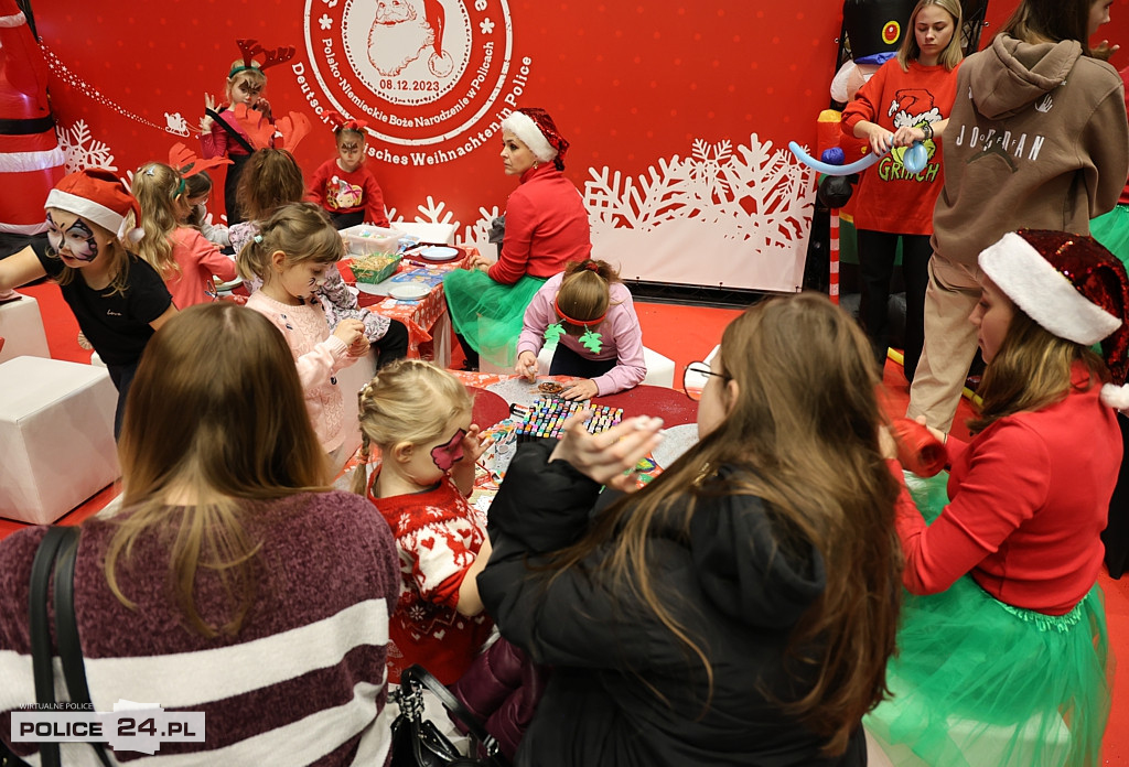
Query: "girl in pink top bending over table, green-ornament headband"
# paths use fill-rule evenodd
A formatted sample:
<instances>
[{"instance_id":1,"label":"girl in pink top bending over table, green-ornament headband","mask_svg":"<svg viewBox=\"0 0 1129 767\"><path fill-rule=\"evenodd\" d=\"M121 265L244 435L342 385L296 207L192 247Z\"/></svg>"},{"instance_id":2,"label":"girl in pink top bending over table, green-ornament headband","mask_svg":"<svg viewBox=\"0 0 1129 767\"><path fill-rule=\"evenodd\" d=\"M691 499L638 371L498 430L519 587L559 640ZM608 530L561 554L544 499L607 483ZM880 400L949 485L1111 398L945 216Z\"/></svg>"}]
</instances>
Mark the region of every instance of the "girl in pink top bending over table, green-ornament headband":
<instances>
[{"instance_id":1,"label":"girl in pink top bending over table, green-ornament headband","mask_svg":"<svg viewBox=\"0 0 1129 767\"><path fill-rule=\"evenodd\" d=\"M536 378L545 343L557 345L550 376L583 377L564 388L564 399L605 397L647 377L631 292L606 262L574 262L534 294L517 341L518 376Z\"/></svg>"}]
</instances>

